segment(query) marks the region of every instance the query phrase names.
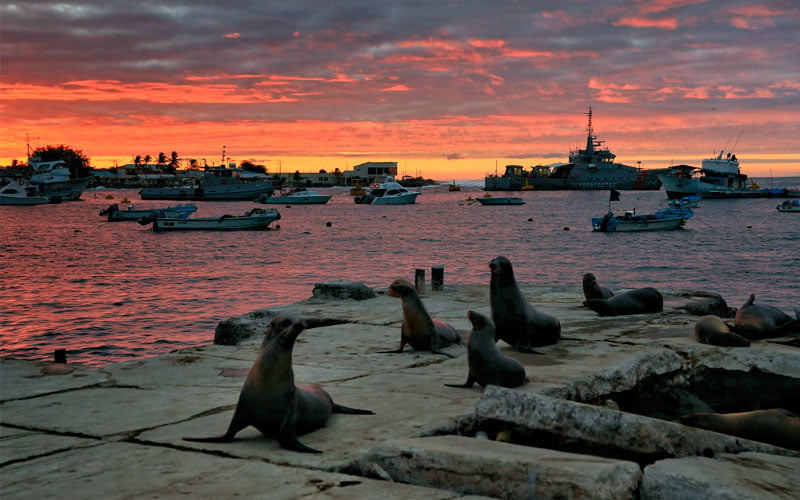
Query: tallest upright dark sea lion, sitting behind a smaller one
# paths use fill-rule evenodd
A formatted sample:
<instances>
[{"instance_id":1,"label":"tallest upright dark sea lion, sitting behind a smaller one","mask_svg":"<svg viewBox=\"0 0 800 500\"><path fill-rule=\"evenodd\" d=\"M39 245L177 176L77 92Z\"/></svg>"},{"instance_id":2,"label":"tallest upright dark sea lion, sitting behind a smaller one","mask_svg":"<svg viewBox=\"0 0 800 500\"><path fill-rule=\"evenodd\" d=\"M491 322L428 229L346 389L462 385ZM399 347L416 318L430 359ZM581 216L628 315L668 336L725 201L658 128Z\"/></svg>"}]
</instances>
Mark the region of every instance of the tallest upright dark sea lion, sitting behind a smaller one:
<instances>
[{"instance_id":1,"label":"tallest upright dark sea lion, sitting behind a smaller one","mask_svg":"<svg viewBox=\"0 0 800 500\"><path fill-rule=\"evenodd\" d=\"M536 353L531 347L555 344L561 338L558 318L537 311L528 303L514 279L511 261L501 256L489 263L492 277L489 301L495 340L503 339L520 352ZM538 353L537 353L538 354Z\"/></svg>"}]
</instances>

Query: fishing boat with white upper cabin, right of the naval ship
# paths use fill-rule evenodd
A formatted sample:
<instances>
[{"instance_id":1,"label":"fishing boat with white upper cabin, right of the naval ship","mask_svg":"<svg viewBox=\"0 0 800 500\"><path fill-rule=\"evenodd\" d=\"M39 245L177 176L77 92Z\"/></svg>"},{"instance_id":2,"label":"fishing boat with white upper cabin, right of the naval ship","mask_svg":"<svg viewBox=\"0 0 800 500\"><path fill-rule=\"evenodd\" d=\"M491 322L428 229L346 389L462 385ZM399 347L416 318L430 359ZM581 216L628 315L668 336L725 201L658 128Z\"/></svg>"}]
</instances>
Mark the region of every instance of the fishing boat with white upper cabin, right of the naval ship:
<instances>
[{"instance_id":1,"label":"fishing boat with white upper cabin, right of the naval ship","mask_svg":"<svg viewBox=\"0 0 800 500\"><path fill-rule=\"evenodd\" d=\"M699 169L691 165L676 165L658 178L670 200L691 195L711 199L793 196L793 191L787 188L761 188L741 172L736 155L724 150L703 159Z\"/></svg>"}]
</instances>

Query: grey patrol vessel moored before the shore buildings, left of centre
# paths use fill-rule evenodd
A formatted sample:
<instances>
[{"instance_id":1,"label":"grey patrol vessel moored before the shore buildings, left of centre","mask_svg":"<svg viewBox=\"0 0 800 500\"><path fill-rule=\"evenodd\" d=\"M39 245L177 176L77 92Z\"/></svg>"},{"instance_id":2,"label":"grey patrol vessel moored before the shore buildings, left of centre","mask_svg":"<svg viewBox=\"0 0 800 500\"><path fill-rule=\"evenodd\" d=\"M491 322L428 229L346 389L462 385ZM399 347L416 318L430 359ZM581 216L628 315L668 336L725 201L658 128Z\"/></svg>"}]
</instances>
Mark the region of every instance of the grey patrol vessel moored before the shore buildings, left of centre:
<instances>
[{"instance_id":1,"label":"grey patrol vessel moored before the shore buildings, left of centre","mask_svg":"<svg viewBox=\"0 0 800 500\"><path fill-rule=\"evenodd\" d=\"M254 200L275 187L270 180L250 180L242 176L244 169L206 167L197 185L147 187L139 191L143 200Z\"/></svg>"}]
</instances>

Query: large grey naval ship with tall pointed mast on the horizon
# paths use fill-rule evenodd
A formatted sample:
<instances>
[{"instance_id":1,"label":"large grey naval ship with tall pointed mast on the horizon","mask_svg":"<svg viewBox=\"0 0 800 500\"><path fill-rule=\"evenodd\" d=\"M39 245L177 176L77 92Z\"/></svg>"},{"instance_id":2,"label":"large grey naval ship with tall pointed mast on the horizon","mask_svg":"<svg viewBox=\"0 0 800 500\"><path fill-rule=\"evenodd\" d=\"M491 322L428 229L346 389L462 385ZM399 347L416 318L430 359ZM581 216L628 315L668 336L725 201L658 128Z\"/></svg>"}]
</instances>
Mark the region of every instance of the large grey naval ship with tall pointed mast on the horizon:
<instances>
[{"instance_id":1,"label":"large grey naval ship with tall pointed mast on the horizon","mask_svg":"<svg viewBox=\"0 0 800 500\"><path fill-rule=\"evenodd\" d=\"M537 165L525 170L521 165L506 165L503 175L490 174L484 179L486 191L648 189L661 187L659 174L668 169L642 169L616 163L616 155L602 147L592 128L592 108L586 113L586 148L570 151L569 163Z\"/></svg>"}]
</instances>

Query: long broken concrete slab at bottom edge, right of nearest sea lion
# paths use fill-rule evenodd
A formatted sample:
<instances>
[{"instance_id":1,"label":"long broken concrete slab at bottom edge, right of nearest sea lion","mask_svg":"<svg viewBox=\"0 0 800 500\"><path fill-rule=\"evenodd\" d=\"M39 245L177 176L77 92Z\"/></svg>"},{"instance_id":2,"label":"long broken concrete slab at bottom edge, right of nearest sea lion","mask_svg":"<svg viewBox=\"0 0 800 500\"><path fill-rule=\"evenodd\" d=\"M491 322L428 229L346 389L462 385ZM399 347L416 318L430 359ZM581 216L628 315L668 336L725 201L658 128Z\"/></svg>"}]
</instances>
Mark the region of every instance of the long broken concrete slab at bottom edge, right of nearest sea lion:
<instances>
[{"instance_id":1,"label":"long broken concrete slab at bottom edge, right of nearest sea lion","mask_svg":"<svg viewBox=\"0 0 800 500\"><path fill-rule=\"evenodd\" d=\"M634 498L636 463L464 436L387 441L361 462L393 480L493 498Z\"/></svg>"}]
</instances>

